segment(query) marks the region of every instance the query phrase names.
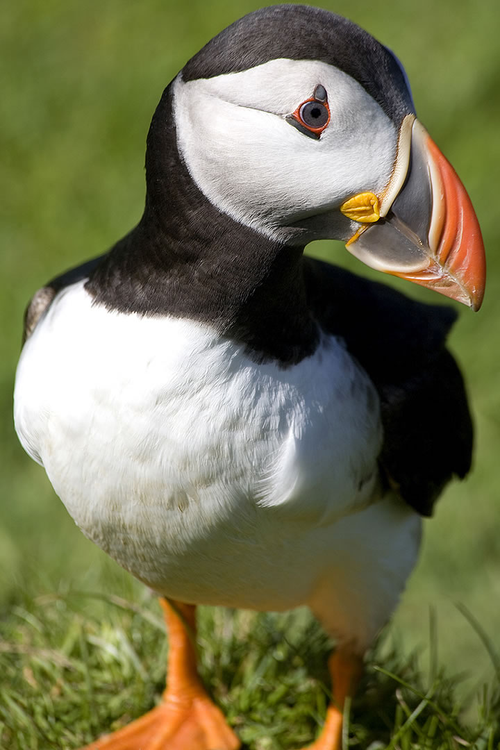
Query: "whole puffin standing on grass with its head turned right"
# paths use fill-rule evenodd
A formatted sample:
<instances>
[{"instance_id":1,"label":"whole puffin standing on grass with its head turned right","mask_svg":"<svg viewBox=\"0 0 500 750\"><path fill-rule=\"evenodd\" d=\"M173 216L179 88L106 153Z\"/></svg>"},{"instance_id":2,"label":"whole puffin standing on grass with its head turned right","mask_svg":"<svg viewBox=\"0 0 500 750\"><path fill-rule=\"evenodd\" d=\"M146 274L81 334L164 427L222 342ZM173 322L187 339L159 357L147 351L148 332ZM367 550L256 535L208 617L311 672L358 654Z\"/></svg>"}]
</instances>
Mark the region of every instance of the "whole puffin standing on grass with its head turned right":
<instances>
[{"instance_id":1,"label":"whole puffin standing on grass with its head turned right","mask_svg":"<svg viewBox=\"0 0 500 750\"><path fill-rule=\"evenodd\" d=\"M196 670L196 605L306 605L337 647L314 750L339 750L364 653L415 565L422 518L469 471L445 347L477 311L484 245L403 66L349 20L274 5L209 41L148 133L145 209L34 294L15 424L82 532L160 598L166 688L87 750L236 750Z\"/></svg>"}]
</instances>

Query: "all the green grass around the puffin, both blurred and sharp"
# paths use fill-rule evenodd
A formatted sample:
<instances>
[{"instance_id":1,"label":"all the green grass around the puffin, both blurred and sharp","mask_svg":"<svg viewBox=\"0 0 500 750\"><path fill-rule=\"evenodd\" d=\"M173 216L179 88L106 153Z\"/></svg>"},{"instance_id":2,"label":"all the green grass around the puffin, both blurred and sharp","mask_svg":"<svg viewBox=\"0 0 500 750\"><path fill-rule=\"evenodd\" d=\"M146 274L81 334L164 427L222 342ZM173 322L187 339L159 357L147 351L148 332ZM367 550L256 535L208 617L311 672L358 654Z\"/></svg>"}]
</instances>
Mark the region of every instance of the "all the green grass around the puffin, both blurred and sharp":
<instances>
[{"instance_id":1,"label":"all the green grass around the puffin, both blurred and sharp","mask_svg":"<svg viewBox=\"0 0 500 750\"><path fill-rule=\"evenodd\" d=\"M463 178L489 253L484 308L477 316L461 311L451 338L474 407L475 471L446 491L436 518L426 523L421 562L387 640L370 656L370 688L362 687L352 707L352 742L493 748L500 711L494 656L500 645L497 2L318 4L368 28L403 60L418 114ZM160 92L206 40L258 5L16 0L2 13L2 750L78 746L159 695L164 640L154 625L154 603L82 537L13 434L22 311L46 279L99 254L139 218L145 133ZM376 276L348 259L341 245L309 251ZM410 296L437 301L394 283ZM108 598L76 595L76 588ZM138 609L117 607L109 594ZM456 601L473 614L474 627ZM481 640L481 629L491 643ZM326 703L327 644L304 613L256 619L243 613L233 621L207 610L201 638L204 674L250 747L296 748L313 736ZM412 656L418 646L419 659ZM439 664L460 679L445 679Z\"/></svg>"}]
</instances>

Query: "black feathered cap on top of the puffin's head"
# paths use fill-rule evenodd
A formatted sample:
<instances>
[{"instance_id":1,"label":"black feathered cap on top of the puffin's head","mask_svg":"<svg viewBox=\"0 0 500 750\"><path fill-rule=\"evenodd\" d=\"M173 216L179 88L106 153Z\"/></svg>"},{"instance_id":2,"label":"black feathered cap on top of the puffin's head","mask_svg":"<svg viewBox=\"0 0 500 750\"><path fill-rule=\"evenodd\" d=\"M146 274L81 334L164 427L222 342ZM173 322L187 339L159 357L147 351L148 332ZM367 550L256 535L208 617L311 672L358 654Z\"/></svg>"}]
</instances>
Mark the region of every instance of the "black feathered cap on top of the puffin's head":
<instances>
[{"instance_id":1,"label":"black feathered cap on top of the puffin's head","mask_svg":"<svg viewBox=\"0 0 500 750\"><path fill-rule=\"evenodd\" d=\"M232 23L184 66L184 81L238 73L270 60L319 60L358 81L399 126L414 113L400 62L352 21L307 5L272 5Z\"/></svg>"}]
</instances>

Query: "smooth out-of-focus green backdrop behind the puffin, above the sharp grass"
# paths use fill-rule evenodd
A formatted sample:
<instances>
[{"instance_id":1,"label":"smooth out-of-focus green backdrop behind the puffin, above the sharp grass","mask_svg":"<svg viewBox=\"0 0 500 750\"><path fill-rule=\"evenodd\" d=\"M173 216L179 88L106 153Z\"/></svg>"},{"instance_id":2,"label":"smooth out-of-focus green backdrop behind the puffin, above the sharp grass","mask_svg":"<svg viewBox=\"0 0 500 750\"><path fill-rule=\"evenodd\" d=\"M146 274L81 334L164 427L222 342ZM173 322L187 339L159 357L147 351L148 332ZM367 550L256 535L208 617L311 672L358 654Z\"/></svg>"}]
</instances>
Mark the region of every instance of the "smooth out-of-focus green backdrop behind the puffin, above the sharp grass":
<instances>
[{"instance_id":1,"label":"smooth out-of-focus green backdrop behind the puffin, above the sharp grass","mask_svg":"<svg viewBox=\"0 0 500 750\"><path fill-rule=\"evenodd\" d=\"M484 231L484 307L477 315L461 308L451 337L475 413L475 470L447 490L426 522L421 562L393 625L404 649L421 644L425 657L433 607L440 661L468 670L466 685L474 689L492 667L454 602L469 607L500 649L498 0L318 5L364 26L403 61L418 115L466 184ZM2 9L1 616L19 588L139 590L83 538L17 443L11 401L22 313L37 287L100 254L139 220L145 136L163 88L217 31L256 7L243 0L16 0ZM342 245L316 244L310 252L371 275ZM436 302L414 285L396 284Z\"/></svg>"}]
</instances>

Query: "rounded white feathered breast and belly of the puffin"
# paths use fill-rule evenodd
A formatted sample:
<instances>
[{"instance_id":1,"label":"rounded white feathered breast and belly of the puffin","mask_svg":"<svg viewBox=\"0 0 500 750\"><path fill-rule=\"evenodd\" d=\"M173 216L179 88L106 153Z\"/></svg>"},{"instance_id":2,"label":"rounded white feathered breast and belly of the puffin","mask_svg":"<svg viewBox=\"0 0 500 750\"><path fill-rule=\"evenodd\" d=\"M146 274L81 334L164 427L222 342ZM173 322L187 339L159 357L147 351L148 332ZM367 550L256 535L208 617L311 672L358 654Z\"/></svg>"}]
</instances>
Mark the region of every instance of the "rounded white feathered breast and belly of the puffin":
<instances>
[{"instance_id":1,"label":"rounded white feathered breast and belly of the puffin","mask_svg":"<svg viewBox=\"0 0 500 750\"><path fill-rule=\"evenodd\" d=\"M172 598L256 609L311 601L352 555L381 441L373 386L334 338L257 365L207 326L92 307L82 284L25 346L15 419L124 568Z\"/></svg>"}]
</instances>

